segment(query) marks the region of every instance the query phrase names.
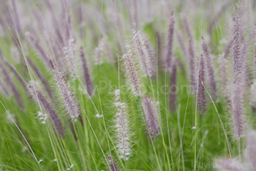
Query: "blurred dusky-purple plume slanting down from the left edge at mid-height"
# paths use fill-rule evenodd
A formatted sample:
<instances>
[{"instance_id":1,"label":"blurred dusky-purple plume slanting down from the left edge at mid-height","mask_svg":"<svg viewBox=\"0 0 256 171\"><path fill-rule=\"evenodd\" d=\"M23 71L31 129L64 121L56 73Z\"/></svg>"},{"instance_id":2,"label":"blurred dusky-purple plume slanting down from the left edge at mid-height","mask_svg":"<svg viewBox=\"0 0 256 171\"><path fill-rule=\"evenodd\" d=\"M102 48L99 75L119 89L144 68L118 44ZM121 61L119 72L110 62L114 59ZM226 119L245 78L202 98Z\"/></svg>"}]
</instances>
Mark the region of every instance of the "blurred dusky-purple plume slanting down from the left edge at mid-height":
<instances>
[{"instance_id":1,"label":"blurred dusky-purple plume slanting down from the left edge at mid-height","mask_svg":"<svg viewBox=\"0 0 256 171\"><path fill-rule=\"evenodd\" d=\"M4 78L5 78L6 82L7 82L7 84L12 89L12 93L15 96L15 99L17 100L18 105L21 108L23 108L23 102L22 102L22 100L20 98L20 93L19 93L17 87L15 86L15 83L13 83L12 79L10 78L10 75L8 74L7 70L4 68L4 65L0 64L0 67L1 67L1 71L4 74Z\"/></svg>"}]
</instances>

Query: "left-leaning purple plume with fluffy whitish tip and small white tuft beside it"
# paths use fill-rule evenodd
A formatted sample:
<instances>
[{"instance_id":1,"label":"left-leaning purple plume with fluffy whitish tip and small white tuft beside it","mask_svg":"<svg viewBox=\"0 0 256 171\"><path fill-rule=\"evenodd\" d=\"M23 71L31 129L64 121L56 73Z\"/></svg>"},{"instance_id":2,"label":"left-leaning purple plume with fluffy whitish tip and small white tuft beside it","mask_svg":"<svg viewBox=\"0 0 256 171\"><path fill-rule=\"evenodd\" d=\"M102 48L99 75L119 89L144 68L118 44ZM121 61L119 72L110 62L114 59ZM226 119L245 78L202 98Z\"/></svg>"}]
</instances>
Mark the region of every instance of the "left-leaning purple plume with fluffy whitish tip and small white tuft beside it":
<instances>
[{"instance_id":1,"label":"left-leaning purple plume with fluffy whitish tip and small white tuft beside it","mask_svg":"<svg viewBox=\"0 0 256 171\"><path fill-rule=\"evenodd\" d=\"M50 105L48 100L45 98L42 92L39 91L38 83L30 81L28 88L31 95L34 97L34 101L42 104L42 106L45 108L45 111L48 113L48 115L50 115L50 118L53 121L53 125L55 126L59 136L64 137L63 126L59 119L59 115L56 114L55 110ZM41 112L39 113L38 117L42 121L42 123L45 123L46 119L48 118L47 115L42 114Z\"/></svg>"}]
</instances>

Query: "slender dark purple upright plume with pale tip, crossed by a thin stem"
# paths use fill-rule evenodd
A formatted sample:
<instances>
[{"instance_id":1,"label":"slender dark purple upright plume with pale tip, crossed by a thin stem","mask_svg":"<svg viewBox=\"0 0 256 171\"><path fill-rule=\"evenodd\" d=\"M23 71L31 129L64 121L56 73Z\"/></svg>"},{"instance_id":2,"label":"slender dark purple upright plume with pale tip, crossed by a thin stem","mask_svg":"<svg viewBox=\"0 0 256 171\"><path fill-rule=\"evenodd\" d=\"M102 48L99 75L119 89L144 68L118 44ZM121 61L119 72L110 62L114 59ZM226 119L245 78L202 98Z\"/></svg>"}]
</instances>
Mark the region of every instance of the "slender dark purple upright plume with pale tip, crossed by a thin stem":
<instances>
[{"instance_id":1,"label":"slender dark purple upright plume with pale tip, crossed by a thin stem","mask_svg":"<svg viewBox=\"0 0 256 171\"><path fill-rule=\"evenodd\" d=\"M200 115L206 112L206 92L205 92L205 57L200 56L199 73L198 73L198 87L197 87L197 103Z\"/></svg>"}]
</instances>

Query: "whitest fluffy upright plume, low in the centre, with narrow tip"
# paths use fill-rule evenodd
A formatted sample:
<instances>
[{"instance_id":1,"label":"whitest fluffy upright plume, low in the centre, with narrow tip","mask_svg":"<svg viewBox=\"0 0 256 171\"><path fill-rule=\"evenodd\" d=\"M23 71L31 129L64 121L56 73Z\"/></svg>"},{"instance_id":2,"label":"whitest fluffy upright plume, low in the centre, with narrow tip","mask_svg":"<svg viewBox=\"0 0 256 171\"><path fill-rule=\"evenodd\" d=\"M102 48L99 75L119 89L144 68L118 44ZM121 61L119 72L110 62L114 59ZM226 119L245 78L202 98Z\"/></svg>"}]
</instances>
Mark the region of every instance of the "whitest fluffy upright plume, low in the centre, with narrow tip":
<instances>
[{"instance_id":1,"label":"whitest fluffy upright plume, low in the centre, with narrow tip","mask_svg":"<svg viewBox=\"0 0 256 171\"><path fill-rule=\"evenodd\" d=\"M127 105L121 102L120 90L115 91L116 106L116 146L118 148L118 156L120 159L127 161L131 155L131 143L129 134L129 121L127 116Z\"/></svg>"}]
</instances>

